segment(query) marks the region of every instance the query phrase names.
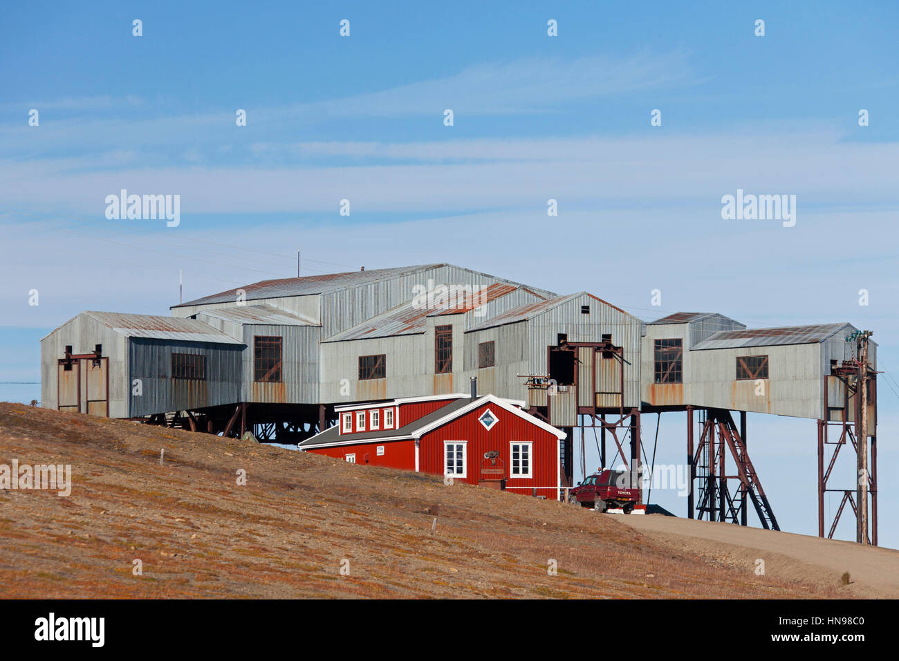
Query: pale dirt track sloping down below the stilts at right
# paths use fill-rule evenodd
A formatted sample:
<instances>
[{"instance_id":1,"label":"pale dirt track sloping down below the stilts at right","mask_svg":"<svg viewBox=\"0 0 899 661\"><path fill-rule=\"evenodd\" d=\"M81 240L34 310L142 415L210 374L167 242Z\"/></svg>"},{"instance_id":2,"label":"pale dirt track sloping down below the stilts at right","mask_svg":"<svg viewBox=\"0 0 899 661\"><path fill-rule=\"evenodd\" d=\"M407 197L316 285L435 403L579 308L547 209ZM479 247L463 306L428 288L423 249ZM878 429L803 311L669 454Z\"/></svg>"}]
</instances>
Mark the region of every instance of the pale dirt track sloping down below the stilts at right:
<instances>
[{"instance_id":1,"label":"pale dirt track sloping down below the stilts at right","mask_svg":"<svg viewBox=\"0 0 899 661\"><path fill-rule=\"evenodd\" d=\"M833 585L844 572L849 572L850 594L899 597L899 551L895 549L661 514L607 516L627 523L656 543L725 565L754 567L756 559L761 558L767 576L816 585Z\"/></svg>"}]
</instances>

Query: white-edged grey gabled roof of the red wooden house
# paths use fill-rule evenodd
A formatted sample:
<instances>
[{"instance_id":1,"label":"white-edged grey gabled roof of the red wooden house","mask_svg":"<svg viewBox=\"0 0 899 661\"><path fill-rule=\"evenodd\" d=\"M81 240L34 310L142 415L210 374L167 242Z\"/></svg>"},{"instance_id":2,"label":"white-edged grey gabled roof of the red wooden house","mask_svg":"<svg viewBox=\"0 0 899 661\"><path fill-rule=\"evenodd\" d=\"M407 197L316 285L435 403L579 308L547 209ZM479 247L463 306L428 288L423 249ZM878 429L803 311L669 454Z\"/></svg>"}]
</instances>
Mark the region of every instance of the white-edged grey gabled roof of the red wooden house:
<instances>
[{"instance_id":1,"label":"white-edged grey gabled roof of the red wooden house","mask_svg":"<svg viewBox=\"0 0 899 661\"><path fill-rule=\"evenodd\" d=\"M517 415L528 420L530 423L536 424L541 429L554 434L556 438L565 438L565 433L562 433L556 429L556 427L543 422L538 417L525 413L518 406L513 406L509 400L494 395L483 395L476 399L459 398L449 402L446 406L441 406L428 415L423 415L409 424L404 424L399 429L381 429L376 432L340 433L340 426L335 424L333 427L325 429L324 432L316 433L315 436L300 442L298 448L301 450L310 450L314 448L352 445L355 443L371 441L417 439L421 438L425 433L432 432L434 429L455 420L461 415L467 414L469 411L475 410L479 406L484 406L485 404L493 404L497 408L508 411L512 415Z\"/></svg>"}]
</instances>

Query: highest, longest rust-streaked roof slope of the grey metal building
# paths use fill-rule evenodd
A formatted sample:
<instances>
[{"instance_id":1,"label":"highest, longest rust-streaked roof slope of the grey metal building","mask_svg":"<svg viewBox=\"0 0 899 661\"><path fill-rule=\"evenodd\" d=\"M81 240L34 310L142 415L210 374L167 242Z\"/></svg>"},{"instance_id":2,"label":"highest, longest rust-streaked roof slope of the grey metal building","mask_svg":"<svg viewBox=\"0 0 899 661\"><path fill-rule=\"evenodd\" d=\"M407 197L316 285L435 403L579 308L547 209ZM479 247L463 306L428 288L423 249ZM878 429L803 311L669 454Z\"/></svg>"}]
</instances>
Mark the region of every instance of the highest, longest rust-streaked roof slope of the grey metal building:
<instances>
[{"instance_id":1,"label":"highest, longest rust-streaked roof slope of the grey metal building","mask_svg":"<svg viewBox=\"0 0 899 661\"><path fill-rule=\"evenodd\" d=\"M209 303L233 303L237 299L238 290L245 291L246 300L321 294L325 291L341 290L356 284L378 281L385 278L395 278L400 275L439 268L445 265L447 264L423 264L420 266L401 266L391 269L372 269L371 271L323 273L322 275L307 275L302 278L263 280L254 282L253 284L244 285L243 287L236 287L233 290L212 294L203 297L202 299L179 303L178 305L172 306L172 308L182 308L188 305L207 305Z\"/></svg>"}]
</instances>

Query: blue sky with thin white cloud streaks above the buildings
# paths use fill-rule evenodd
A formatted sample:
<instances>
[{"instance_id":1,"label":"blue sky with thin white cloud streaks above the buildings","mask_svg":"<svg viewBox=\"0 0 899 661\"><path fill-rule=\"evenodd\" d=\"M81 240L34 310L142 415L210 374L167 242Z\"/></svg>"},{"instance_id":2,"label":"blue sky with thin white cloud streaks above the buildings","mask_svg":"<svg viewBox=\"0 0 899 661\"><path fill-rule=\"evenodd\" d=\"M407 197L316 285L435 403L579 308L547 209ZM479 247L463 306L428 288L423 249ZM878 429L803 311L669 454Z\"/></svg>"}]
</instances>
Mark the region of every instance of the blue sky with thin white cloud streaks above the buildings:
<instances>
[{"instance_id":1,"label":"blue sky with thin white cloud streaks above the buildings","mask_svg":"<svg viewBox=\"0 0 899 661\"><path fill-rule=\"evenodd\" d=\"M40 380L40 336L80 310L167 314L179 268L191 299L295 274L298 249L304 274L449 262L645 319L850 321L899 374L897 19L891 2L10 4L0 382ZM106 219L121 188L180 194L181 224ZM797 195L796 226L721 219L738 188ZM897 405L882 384L894 547ZM681 423L663 417L671 462ZM814 422L750 423L783 527L814 532Z\"/></svg>"}]
</instances>

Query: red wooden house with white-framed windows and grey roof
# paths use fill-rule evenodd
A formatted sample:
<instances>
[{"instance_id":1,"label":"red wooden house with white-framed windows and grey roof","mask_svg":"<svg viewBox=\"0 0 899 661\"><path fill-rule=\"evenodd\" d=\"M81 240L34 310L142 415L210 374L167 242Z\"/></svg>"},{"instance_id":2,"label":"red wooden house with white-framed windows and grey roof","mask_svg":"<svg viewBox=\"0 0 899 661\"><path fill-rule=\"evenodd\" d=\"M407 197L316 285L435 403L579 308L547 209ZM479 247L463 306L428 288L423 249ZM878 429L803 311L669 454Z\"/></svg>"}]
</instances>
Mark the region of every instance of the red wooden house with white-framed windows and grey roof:
<instances>
[{"instance_id":1,"label":"red wooden house with white-framed windows and grey roof","mask_svg":"<svg viewBox=\"0 0 899 661\"><path fill-rule=\"evenodd\" d=\"M405 397L337 406L338 424L302 451L559 499L565 433L493 395Z\"/></svg>"}]
</instances>

